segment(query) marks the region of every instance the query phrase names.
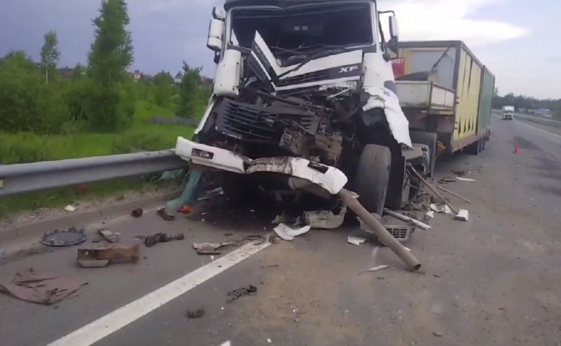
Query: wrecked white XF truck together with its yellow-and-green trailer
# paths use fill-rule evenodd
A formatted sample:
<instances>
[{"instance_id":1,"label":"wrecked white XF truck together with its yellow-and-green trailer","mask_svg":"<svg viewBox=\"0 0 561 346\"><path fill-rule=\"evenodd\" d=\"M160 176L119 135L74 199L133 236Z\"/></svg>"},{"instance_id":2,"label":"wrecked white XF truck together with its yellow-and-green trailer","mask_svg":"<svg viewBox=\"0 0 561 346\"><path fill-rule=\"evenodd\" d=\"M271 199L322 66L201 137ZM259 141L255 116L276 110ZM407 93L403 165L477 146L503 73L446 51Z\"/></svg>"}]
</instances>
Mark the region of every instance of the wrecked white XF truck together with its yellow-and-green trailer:
<instances>
[{"instance_id":1,"label":"wrecked white XF truck together with its yellow-and-green trailer","mask_svg":"<svg viewBox=\"0 0 561 346\"><path fill-rule=\"evenodd\" d=\"M207 45L213 95L176 153L225 193L346 187L381 214L489 140L493 74L462 41L399 41L374 0L225 0Z\"/></svg>"}]
</instances>

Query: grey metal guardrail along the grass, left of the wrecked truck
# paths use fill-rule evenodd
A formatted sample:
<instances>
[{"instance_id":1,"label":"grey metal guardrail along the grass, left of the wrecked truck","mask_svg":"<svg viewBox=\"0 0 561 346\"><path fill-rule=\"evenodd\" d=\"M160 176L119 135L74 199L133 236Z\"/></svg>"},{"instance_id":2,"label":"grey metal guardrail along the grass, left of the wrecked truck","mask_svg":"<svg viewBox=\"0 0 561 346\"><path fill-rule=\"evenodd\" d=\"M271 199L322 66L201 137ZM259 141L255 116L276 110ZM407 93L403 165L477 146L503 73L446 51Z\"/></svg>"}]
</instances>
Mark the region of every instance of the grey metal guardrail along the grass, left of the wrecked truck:
<instances>
[{"instance_id":1,"label":"grey metal guardrail along the grass, left of the wrecked truck","mask_svg":"<svg viewBox=\"0 0 561 346\"><path fill-rule=\"evenodd\" d=\"M173 150L0 165L0 197L187 168Z\"/></svg>"}]
</instances>

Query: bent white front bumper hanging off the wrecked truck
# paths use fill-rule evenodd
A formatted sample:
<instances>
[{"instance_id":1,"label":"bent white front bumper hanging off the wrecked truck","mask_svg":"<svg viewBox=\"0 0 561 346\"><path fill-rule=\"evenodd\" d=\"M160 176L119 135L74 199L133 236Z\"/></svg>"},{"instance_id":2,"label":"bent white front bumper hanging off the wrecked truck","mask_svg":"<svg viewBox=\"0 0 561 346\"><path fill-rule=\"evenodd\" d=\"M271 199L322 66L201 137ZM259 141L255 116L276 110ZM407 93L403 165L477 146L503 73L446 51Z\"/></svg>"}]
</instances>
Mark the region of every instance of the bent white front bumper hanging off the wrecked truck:
<instances>
[{"instance_id":1,"label":"bent white front bumper hanging off the wrecked truck","mask_svg":"<svg viewBox=\"0 0 561 346\"><path fill-rule=\"evenodd\" d=\"M193 164L234 173L287 174L318 184L332 195L341 191L348 181L347 176L341 170L307 159L291 156L250 159L230 150L197 143L183 137L177 137L176 154Z\"/></svg>"}]
</instances>

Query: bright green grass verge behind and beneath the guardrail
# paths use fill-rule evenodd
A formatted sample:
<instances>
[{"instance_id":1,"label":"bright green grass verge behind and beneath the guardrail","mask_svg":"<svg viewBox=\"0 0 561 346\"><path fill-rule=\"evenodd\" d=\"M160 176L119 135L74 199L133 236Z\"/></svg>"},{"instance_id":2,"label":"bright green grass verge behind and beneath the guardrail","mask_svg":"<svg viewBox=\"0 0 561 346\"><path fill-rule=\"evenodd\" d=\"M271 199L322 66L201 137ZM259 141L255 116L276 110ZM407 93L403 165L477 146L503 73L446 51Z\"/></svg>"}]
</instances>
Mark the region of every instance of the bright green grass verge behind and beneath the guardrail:
<instances>
[{"instance_id":1,"label":"bright green grass verge behind and beneath the guardrail","mask_svg":"<svg viewBox=\"0 0 561 346\"><path fill-rule=\"evenodd\" d=\"M16 164L163 150L175 147L178 136L190 138L194 129L175 124L151 124L150 118L173 117L171 108L146 102L136 105L135 123L123 133L76 133L39 136L34 133L0 135L0 163ZM152 191L174 182L147 183L141 178L115 179L87 185L83 194L77 187L25 193L0 200L0 218L39 207L62 207L78 200L100 200L131 190Z\"/></svg>"}]
</instances>

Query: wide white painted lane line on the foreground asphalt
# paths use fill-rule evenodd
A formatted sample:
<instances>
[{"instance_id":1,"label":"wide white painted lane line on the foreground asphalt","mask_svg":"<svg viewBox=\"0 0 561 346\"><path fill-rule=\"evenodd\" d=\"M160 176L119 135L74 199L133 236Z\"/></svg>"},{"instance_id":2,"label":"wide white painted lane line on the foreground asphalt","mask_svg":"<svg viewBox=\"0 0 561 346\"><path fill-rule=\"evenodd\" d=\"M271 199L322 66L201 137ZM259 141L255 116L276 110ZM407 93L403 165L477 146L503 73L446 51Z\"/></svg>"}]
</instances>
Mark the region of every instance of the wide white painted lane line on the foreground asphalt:
<instances>
[{"instance_id":1,"label":"wide white painted lane line on the foreground asphalt","mask_svg":"<svg viewBox=\"0 0 561 346\"><path fill-rule=\"evenodd\" d=\"M136 299L136 301L118 308L100 319L63 336L47 346L90 346L105 338L122 327L134 322L140 317L156 310L158 307L181 296L183 293L197 287L206 280L222 273L224 270L247 259L251 255L268 247L271 243L259 245L246 244L237 250L227 253L218 260L212 261L191 273Z\"/></svg>"}]
</instances>

